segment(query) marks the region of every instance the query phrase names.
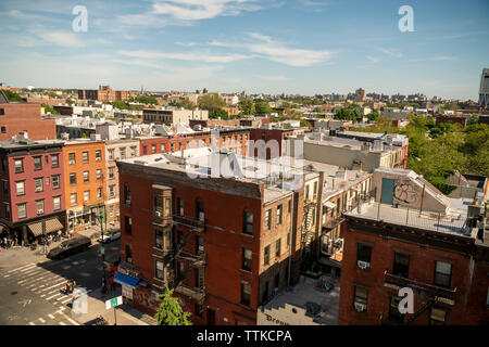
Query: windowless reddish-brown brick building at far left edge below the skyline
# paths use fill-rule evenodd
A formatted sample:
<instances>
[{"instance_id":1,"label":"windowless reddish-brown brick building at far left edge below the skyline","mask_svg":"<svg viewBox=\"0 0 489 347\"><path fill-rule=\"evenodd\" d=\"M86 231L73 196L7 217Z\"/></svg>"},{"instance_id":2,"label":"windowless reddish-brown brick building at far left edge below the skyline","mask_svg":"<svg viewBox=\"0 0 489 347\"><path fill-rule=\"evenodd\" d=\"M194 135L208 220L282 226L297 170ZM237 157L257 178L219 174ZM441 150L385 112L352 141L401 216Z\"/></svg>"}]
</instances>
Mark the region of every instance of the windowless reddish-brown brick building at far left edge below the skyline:
<instances>
[{"instance_id":1,"label":"windowless reddish-brown brick building at far left edge below the skyline","mask_svg":"<svg viewBox=\"0 0 489 347\"><path fill-rule=\"evenodd\" d=\"M18 136L21 131L27 131L34 141L57 138L55 121L41 118L40 104L9 102L0 92L0 141Z\"/></svg>"}]
</instances>

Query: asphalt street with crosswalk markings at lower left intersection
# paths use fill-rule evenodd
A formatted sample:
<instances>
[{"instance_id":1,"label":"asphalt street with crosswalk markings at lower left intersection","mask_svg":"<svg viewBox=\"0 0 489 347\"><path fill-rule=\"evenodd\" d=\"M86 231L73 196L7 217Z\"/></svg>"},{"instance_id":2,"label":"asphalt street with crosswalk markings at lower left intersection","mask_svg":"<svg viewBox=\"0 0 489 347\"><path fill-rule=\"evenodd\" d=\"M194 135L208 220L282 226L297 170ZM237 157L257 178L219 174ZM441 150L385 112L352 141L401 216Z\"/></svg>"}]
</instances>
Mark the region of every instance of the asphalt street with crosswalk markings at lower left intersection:
<instances>
[{"instance_id":1,"label":"asphalt street with crosswalk markings at lower left intersection","mask_svg":"<svg viewBox=\"0 0 489 347\"><path fill-rule=\"evenodd\" d=\"M116 259L120 242L105 244L105 259ZM9 250L9 249L8 249ZM15 252L15 250L11 250ZM102 283L99 244L62 260L18 264L0 269L0 325L77 325L71 295L60 290L75 280L88 295ZM109 282L108 282L109 284Z\"/></svg>"}]
</instances>

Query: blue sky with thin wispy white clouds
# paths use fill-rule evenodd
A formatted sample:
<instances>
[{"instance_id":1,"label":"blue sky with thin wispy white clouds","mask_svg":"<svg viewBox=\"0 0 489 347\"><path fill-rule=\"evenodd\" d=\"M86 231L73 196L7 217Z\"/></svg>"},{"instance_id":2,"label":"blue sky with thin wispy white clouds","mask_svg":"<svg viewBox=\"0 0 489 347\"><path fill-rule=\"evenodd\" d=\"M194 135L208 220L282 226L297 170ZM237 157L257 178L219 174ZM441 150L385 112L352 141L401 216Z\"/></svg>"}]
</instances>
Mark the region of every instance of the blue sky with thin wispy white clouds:
<instances>
[{"instance_id":1,"label":"blue sky with thin wispy white clouds","mask_svg":"<svg viewBox=\"0 0 489 347\"><path fill-rule=\"evenodd\" d=\"M487 0L0 0L0 81L21 88L478 100L488 43Z\"/></svg>"}]
</instances>

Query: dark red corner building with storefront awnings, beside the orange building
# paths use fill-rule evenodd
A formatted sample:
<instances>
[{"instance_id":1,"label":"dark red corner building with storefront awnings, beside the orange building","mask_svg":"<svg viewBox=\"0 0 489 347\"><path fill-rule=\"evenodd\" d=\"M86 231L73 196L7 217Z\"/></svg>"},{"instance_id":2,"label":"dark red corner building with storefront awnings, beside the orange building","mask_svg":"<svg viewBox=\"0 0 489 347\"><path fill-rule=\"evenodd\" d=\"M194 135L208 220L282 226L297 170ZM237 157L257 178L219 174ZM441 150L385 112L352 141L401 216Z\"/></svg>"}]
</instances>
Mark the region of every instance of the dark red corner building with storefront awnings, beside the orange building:
<instances>
[{"instance_id":1,"label":"dark red corner building with storefront awnings, beside the orange building","mask_svg":"<svg viewBox=\"0 0 489 347\"><path fill-rule=\"evenodd\" d=\"M63 143L0 143L0 229L25 244L64 229Z\"/></svg>"}]
</instances>

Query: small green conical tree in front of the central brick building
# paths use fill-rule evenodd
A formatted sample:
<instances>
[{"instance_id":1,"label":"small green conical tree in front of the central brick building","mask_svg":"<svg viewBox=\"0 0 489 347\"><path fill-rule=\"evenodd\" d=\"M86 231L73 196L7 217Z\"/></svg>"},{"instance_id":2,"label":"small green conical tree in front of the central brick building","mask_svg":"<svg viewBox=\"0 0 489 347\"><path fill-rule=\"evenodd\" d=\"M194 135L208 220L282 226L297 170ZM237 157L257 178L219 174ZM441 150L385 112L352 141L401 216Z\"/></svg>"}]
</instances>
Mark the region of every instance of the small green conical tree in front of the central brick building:
<instances>
[{"instance_id":1,"label":"small green conical tree in front of the central brick building","mask_svg":"<svg viewBox=\"0 0 489 347\"><path fill-rule=\"evenodd\" d=\"M160 295L161 303L154 319L159 325L192 325L188 320L189 312L184 312L178 299L172 296L175 290L165 285L165 292Z\"/></svg>"}]
</instances>

